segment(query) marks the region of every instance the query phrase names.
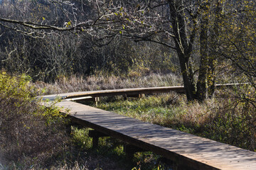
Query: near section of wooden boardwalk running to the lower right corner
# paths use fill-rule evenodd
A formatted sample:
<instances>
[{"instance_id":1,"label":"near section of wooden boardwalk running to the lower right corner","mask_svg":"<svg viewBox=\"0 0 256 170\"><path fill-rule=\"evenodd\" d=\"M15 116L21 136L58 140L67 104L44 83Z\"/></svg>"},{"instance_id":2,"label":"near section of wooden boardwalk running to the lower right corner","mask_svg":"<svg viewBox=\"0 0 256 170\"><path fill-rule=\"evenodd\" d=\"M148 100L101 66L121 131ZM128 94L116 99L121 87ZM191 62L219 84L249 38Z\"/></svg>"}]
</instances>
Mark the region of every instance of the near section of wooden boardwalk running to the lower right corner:
<instances>
[{"instance_id":1,"label":"near section of wooden boardwalk running to the lower right corner","mask_svg":"<svg viewBox=\"0 0 256 170\"><path fill-rule=\"evenodd\" d=\"M193 167L193 169L255 170L256 153L197 137L185 132L143 123L80 103L61 101L58 106L70 109L70 118L124 142ZM67 111L63 109L63 113Z\"/></svg>"}]
</instances>

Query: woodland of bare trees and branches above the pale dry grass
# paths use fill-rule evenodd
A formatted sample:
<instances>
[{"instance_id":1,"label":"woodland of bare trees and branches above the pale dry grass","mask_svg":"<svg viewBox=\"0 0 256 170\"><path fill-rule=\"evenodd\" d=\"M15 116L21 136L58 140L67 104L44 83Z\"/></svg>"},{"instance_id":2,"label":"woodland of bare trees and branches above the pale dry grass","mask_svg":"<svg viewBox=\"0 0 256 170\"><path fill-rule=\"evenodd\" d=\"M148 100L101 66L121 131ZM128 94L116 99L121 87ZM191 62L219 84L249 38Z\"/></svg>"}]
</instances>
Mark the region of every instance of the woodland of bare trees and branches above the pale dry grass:
<instances>
[{"instance_id":1,"label":"woodland of bare trees and branches above the pale dry grass","mask_svg":"<svg viewBox=\"0 0 256 170\"><path fill-rule=\"evenodd\" d=\"M1 68L34 81L175 72L203 101L223 73L255 79L254 1L1 1L0 21Z\"/></svg>"}]
</instances>

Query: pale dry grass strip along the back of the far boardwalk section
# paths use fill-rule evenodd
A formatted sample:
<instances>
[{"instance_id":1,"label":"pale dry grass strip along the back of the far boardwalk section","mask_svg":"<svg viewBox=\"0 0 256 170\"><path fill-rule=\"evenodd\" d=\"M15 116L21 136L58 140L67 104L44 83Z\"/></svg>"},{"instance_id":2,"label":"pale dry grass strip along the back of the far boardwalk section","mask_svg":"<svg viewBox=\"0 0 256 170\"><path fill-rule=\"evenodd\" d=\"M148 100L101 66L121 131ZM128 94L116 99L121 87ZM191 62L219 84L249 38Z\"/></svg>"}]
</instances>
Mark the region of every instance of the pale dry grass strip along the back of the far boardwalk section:
<instances>
[{"instance_id":1,"label":"pale dry grass strip along the back of the far boardwalk section","mask_svg":"<svg viewBox=\"0 0 256 170\"><path fill-rule=\"evenodd\" d=\"M181 82L181 78L174 74L150 74L145 77L116 77L100 74L85 78L74 75L69 78L59 77L53 84L37 81L33 85L41 89L45 88L46 94L61 94L74 91L179 86L182 84Z\"/></svg>"}]
</instances>

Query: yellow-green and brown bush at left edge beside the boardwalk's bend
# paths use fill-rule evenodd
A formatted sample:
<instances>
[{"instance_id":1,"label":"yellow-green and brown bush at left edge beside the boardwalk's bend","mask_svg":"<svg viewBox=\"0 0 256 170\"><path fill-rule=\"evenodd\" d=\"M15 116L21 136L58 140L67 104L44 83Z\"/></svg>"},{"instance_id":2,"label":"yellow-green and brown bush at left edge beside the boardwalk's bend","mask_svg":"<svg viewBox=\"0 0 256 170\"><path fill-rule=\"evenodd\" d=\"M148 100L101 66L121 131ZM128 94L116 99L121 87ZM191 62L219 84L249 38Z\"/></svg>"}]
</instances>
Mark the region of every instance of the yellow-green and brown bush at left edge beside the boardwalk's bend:
<instances>
[{"instance_id":1,"label":"yellow-green and brown bush at left edge beside the boardwalk's bend","mask_svg":"<svg viewBox=\"0 0 256 170\"><path fill-rule=\"evenodd\" d=\"M0 73L0 163L10 169L47 166L65 142L63 116L40 106L29 82L25 75Z\"/></svg>"}]
</instances>

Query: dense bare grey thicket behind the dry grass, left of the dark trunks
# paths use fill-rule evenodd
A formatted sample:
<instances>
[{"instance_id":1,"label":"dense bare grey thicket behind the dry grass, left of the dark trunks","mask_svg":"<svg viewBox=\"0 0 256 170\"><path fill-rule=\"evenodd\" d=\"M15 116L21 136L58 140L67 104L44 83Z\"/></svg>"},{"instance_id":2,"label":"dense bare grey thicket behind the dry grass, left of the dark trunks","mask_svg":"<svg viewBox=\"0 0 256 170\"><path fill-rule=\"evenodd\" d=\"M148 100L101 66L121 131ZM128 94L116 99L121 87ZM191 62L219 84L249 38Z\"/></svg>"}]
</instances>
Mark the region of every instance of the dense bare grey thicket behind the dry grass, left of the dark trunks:
<instances>
[{"instance_id":1,"label":"dense bare grey thicket behind the dry grass, left of the dark trunks","mask_svg":"<svg viewBox=\"0 0 256 170\"><path fill-rule=\"evenodd\" d=\"M70 19L74 19L65 15L70 15L72 11L63 13L50 1L2 3L1 16L18 21L62 27ZM97 18L94 3L72 3L75 6L71 7L77 9L75 17L79 17L75 20L91 21ZM70 10L70 6L67 5L65 10ZM33 38L37 35L35 31L26 35L1 26L1 68L11 74L25 72L34 81L47 82L54 81L57 77L68 77L72 74L87 76L95 72L111 72L117 75L132 72L137 72L138 75L149 72L178 72L176 54L168 47L150 42L134 42L120 38L118 34L105 38L100 37L100 33L97 35L79 30L77 32L46 31L38 33L40 37Z\"/></svg>"}]
</instances>

